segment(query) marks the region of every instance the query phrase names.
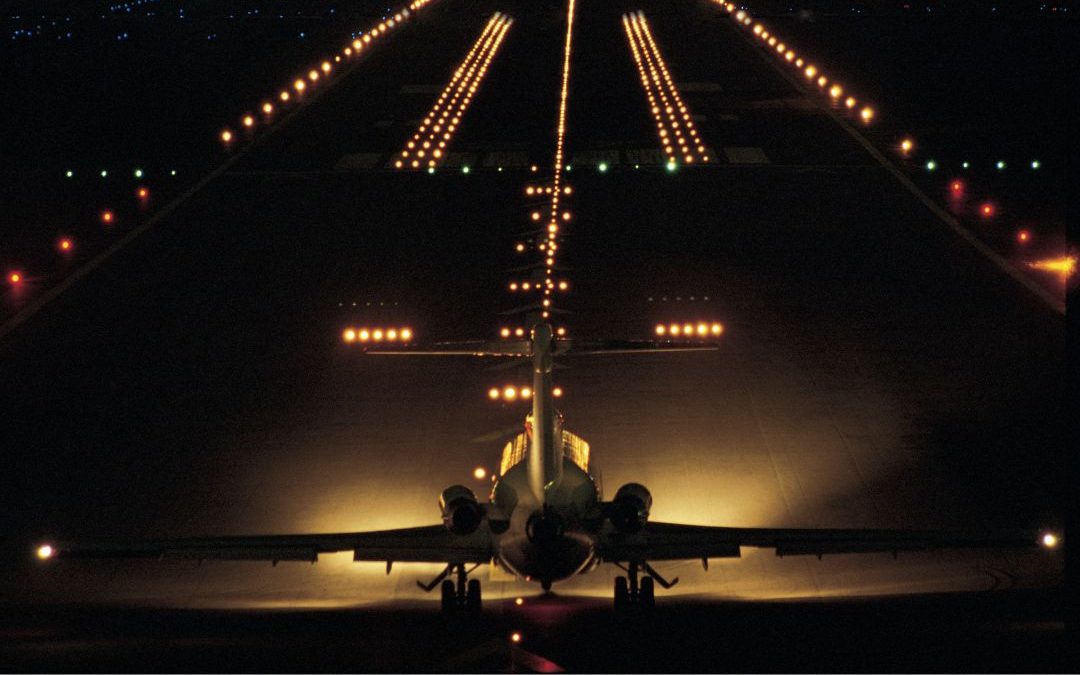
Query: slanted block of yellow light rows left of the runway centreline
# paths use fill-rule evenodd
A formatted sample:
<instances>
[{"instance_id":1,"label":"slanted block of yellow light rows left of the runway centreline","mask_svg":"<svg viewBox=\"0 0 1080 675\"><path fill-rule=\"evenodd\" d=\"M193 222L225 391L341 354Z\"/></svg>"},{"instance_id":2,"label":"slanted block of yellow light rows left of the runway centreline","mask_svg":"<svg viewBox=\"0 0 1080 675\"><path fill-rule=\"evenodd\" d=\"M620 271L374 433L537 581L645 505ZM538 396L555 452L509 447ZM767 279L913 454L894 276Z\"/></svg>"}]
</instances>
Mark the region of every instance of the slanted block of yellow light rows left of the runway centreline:
<instances>
[{"instance_id":1,"label":"slanted block of yellow light rows left of the runway centreline","mask_svg":"<svg viewBox=\"0 0 1080 675\"><path fill-rule=\"evenodd\" d=\"M444 163L450 139L513 23L513 18L501 12L491 15L435 105L393 161L394 168L434 171Z\"/></svg>"}]
</instances>

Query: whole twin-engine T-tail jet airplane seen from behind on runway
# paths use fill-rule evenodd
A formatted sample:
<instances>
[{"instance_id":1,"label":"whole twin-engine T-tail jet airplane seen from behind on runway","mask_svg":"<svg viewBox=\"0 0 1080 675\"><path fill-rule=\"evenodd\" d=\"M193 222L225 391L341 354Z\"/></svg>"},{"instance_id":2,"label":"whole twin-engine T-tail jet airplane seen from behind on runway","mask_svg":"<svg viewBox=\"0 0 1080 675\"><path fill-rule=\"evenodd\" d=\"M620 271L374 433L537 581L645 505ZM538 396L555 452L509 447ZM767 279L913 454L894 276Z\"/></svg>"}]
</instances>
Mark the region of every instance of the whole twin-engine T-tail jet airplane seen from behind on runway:
<instances>
[{"instance_id":1,"label":"whole twin-engine T-tail jet airplane seen from behind on runway","mask_svg":"<svg viewBox=\"0 0 1080 675\"><path fill-rule=\"evenodd\" d=\"M530 318L531 319L531 318ZM649 518L652 496L638 483L620 487L605 501L590 473L590 447L564 429L555 407L555 356L700 351L716 345L658 341L580 341L561 338L537 320L528 339L441 343L431 349L372 346L372 354L480 355L524 360L531 369L531 411L525 431L507 444L487 501L463 485L438 498L441 524L366 532L232 536L143 542L45 543L42 561L56 558L181 558L315 563L323 553L352 552L356 562L440 563L428 583L436 586L447 613L481 611L481 583L469 575L494 563L518 578L552 584L611 564L625 575L615 580L615 608L649 609L656 584L670 589L653 567L663 561L740 557L741 549L774 549L778 555L927 551L939 549L1055 549L1062 541L1043 531L950 532L905 529L801 529L716 527L657 523Z\"/></svg>"}]
</instances>

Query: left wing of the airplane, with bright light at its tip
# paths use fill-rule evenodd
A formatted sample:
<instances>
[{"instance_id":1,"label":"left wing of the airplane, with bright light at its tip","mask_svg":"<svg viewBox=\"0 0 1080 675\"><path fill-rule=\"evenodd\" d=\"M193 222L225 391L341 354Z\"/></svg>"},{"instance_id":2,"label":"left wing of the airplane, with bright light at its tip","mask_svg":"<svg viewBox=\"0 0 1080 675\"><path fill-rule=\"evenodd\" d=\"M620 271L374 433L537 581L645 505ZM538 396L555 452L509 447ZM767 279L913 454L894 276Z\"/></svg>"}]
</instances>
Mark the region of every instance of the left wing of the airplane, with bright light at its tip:
<instances>
[{"instance_id":1,"label":"left wing of the airplane, with bright light at its tip","mask_svg":"<svg viewBox=\"0 0 1080 675\"><path fill-rule=\"evenodd\" d=\"M139 542L69 542L40 548L42 558L173 558L195 561L307 561L321 553L352 551L354 561L390 563L487 563L491 542L477 530L460 536L443 525L374 532L256 535L162 539Z\"/></svg>"}]
</instances>

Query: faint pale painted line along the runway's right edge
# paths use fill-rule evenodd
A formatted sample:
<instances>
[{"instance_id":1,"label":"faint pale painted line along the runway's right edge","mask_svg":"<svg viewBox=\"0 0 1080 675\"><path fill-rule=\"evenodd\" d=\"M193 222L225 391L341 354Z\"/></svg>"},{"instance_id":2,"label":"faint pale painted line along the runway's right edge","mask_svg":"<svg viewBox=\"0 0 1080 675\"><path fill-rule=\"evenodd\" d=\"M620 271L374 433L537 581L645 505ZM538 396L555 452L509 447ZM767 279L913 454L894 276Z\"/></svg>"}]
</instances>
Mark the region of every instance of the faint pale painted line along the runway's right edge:
<instances>
[{"instance_id":1,"label":"faint pale painted line along the runway's right edge","mask_svg":"<svg viewBox=\"0 0 1080 675\"><path fill-rule=\"evenodd\" d=\"M802 87L802 83L793 78L789 72L781 68L780 65L774 63L772 58L770 58L766 54L762 54L760 50L757 49L757 44L751 41L750 38L747 38L743 33L743 31L735 29L735 27L729 24L728 22L721 22L721 23L729 30L738 35L744 42L746 42L752 49L752 51L754 51L761 58L761 60L764 60L766 64L769 65L769 67L771 67L773 70L780 73L780 77L784 78L784 80L786 80L798 92L806 95L806 90ZM836 122L837 125L840 126L840 129L847 132L848 135L855 140L855 143L862 146L862 148L866 150L866 152L870 157L873 157L878 164L880 164L887 172L892 174L892 176L897 181L900 181L900 184L904 186L907 189L907 191L912 193L913 197L915 197L915 199L921 202L923 206L929 208L931 213L937 216L937 219L941 220L947 228L949 228L950 230L953 230L953 232L958 234L960 239L971 244L971 246L975 251L981 253L987 260L989 260L1002 272L1004 272L1005 274L1011 276L1014 281L1020 283L1021 286L1031 292L1031 294L1035 295L1036 298L1042 300L1042 302L1047 305L1050 309L1054 310L1058 314L1062 315L1065 314L1065 302L1063 300L1057 299L1056 297L1054 297L1052 293L1050 293L1049 291L1040 286L1037 282L1027 276L1023 271L1021 271L1011 262L1009 262L1008 259L1005 259L1003 256L1001 256L996 251L990 248L987 244L985 244L981 239L978 239L978 237L975 235L974 232L972 232L963 225L961 225L960 221L957 220L955 217L953 217L951 214L946 212L944 208L939 206L932 199L927 197L927 194L917 185L915 185L915 183L913 183L912 179L908 178L903 171L901 171L895 164L890 162L889 158L882 154L874 146L874 144L870 143L868 138L866 138L863 134L861 134L859 130L849 124L847 120L837 114L835 110L833 110L828 106L823 105L815 97L808 95L806 97L809 100L813 102L815 107L818 107L825 114L832 118L833 121Z\"/></svg>"}]
</instances>

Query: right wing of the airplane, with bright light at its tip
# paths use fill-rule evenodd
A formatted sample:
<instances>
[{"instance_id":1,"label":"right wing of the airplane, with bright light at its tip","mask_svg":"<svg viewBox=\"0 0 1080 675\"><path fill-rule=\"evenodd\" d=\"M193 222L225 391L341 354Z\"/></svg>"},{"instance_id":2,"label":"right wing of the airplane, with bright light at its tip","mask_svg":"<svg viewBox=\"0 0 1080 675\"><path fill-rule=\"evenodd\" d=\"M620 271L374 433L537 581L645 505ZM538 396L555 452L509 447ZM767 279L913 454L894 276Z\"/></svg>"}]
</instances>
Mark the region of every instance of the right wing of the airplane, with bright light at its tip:
<instances>
[{"instance_id":1,"label":"right wing of the airplane, with bright light at its tip","mask_svg":"<svg viewBox=\"0 0 1080 675\"><path fill-rule=\"evenodd\" d=\"M743 546L775 549L777 555L892 553L941 549L1054 548L1056 538L1034 531L949 532L904 529L800 529L707 527L647 523L635 534L611 534L599 542L612 563L739 557Z\"/></svg>"}]
</instances>

